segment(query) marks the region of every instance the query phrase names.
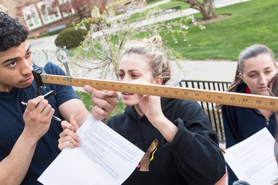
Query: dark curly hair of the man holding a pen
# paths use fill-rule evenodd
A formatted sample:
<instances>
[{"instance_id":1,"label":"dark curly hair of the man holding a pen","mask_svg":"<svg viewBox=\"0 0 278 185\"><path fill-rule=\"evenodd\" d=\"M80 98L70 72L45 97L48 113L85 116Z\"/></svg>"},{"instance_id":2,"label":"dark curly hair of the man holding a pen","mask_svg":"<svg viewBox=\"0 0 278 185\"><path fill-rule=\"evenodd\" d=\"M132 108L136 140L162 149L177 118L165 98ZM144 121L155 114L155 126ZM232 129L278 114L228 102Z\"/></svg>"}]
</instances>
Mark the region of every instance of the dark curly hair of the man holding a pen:
<instances>
[{"instance_id":1,"label":"dark curly hair of the man holding a pen","mask_svg":"<svg viewBox=\"0 0 278 185\"><path fill-rule=\"evenodd\" d=\"M18 20L0 12L0 51L19 46L28 37L29 31Z\"/></svg>"}]
</instances>

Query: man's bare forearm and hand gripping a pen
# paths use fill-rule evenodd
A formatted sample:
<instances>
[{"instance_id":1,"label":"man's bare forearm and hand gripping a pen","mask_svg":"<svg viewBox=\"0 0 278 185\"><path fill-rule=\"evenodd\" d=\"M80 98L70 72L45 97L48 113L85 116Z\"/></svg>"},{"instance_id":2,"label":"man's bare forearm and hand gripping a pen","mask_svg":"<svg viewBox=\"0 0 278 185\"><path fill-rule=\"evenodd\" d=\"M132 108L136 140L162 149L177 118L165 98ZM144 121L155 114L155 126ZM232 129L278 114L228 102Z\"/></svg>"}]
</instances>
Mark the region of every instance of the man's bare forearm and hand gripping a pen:
<instances>
[{"instance_id":1,"label":"man's bare forearm and hand gripping a pen","mask_svg":"<svg viewBox=\"0 0 278 185\"><path fill-rule=\"evenodd\" d=\"M39 96L28 101L25 126L11 153L0 162L0 184L20 184L30 166L38 140L48 131L54 109Z\"/></svg>"}]
</instances>

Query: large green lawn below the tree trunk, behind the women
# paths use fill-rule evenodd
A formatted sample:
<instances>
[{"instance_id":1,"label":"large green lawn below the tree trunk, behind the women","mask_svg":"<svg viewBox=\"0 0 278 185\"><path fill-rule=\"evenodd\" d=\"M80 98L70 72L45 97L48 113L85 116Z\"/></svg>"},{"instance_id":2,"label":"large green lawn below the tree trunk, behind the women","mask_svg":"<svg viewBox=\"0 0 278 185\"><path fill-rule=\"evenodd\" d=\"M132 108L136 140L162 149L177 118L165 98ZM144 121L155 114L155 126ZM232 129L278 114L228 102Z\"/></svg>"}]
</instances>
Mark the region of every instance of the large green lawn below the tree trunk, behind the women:
<instances>
[{"instance_id":1,"label":"large green lawn below the tree trunk, behind the women","mask_svg":"<svg viewBox=\"0 0 278 185\"><path fill-rule=\"evenodd\" d=\"M168 40L175 51L185 58L192 60L237 60L242 49L253 44L265 44L278 57L278 21L277 0L251 0L226 6L216 10L217 14L231 16L205 24L205 30L190 26L187 39L191 43L174 43L170 35L163 38ZM200 19L201 14L194 15ZM176 36L177 40L183 37Z\"/></svg>"}]
</instances>

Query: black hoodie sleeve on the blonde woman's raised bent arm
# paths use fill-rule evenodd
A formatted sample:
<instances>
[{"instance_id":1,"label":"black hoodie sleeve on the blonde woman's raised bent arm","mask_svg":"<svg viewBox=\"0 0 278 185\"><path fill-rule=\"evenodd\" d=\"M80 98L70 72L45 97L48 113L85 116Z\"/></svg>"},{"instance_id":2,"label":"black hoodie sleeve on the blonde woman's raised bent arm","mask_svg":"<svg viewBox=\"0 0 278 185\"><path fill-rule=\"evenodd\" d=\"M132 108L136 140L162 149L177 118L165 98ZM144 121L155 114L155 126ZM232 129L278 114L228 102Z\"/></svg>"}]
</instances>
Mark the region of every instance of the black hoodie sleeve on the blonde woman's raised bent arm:
<instances>
[{"instance_id":1,"label":"black hoodie sleeve on the blonde woman's raised bent arm","mask_svg":"<svg viewBox=\"0 0 278 185\"><path fill-rule=\"evenodd\" d=\"M177 112L177 113L175 113ZM183 101L179 111L172 109L178 126L173 141L162 139L162 146L174 155L180 173L188 184L215 184L225 174L225 159L218 135L197 102Z\"/></svg>"}]
</instances>

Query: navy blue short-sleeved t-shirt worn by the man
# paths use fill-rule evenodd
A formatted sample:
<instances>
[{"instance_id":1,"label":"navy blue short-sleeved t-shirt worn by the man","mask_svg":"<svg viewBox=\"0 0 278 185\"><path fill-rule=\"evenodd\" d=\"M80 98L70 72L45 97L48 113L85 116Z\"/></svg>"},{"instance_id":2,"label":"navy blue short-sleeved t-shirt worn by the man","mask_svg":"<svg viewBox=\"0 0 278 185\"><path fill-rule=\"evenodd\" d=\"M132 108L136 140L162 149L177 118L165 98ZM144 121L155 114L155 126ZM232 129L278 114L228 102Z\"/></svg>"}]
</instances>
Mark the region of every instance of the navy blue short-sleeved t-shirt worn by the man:
<instances>
[{"instance_id":1,"label":"navy blue short-sleeved t-shirt worn by the man","mask_svg":"<svg viewBox=\"0 0 278 185\"><path fill-rule=\"evenodd\" d=\"M34 69L37 68L33 67ZM61 68L51 62L48 62L44 70L47 74L65 75ZM54 115L64 120L58 111L58 107L70 99L79 97L71 86L46 84L46 87L46 89L42 88L40 90L41 95L51 90L57 92L56 95L48 97L47 100L48 104L55 109ZM35 95L35 80L29 88L19 89L14 87L11 92L0 92L0 161L10 154L24 129L23 113L26 107L21 104L21 101L27 102L35 98ZM37 179L61 152L58 148L58 139L62 131L61 122L51 119L48 132L40 138L36 145L34 156L22 184L41 184Z\"/></svg>"}]
</instances>

